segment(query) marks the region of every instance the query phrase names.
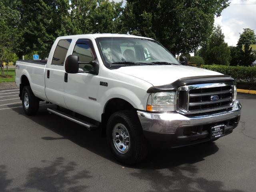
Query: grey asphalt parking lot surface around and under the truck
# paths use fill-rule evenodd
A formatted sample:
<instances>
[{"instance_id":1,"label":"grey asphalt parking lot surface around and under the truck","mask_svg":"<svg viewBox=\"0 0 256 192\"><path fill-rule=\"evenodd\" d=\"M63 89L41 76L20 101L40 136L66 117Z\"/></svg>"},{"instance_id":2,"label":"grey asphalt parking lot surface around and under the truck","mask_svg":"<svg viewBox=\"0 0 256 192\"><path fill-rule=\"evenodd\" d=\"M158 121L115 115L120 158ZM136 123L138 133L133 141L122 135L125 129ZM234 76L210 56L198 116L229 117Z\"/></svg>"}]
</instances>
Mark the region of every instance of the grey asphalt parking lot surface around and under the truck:
<instances>
[{"instance_id":1,"label":"grey asphalt parking lot surface around and under the truck","mask_svg":"<svg viewBox=\"0 0 256 192\"><path fill-rule=\"evenodd\" d=\"M17 88L0 89L0 192L256 191L256 95L238 94L239 126L213 144L152 150L117 162L99 131L49 114L26 116Z\"/></svg>"}]
</instances>

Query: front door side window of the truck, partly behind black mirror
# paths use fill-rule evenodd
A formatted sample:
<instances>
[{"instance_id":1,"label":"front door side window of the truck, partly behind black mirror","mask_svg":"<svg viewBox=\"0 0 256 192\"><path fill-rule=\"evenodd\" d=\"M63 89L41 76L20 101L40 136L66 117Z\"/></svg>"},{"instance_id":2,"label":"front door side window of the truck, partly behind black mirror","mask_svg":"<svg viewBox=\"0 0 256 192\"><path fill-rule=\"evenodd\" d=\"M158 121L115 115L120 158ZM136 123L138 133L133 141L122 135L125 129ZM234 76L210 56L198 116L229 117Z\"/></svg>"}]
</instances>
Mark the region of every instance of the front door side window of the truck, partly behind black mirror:
<instances>
[{"instance_id":1,"label":"front door side window of the truck, partly behind black mirror","mask_svg":"<svg viewBox=\"0 0 256 192\"><path fill-rule=\"evenodd\" d=\"M78 55L80 62L91 62L92 60L94 60L95 55L93 46L88 39L78 39L72 54ZM79 64L79 70L90 71L92 70L92 65Z\"/></svg>"}]
</instances>

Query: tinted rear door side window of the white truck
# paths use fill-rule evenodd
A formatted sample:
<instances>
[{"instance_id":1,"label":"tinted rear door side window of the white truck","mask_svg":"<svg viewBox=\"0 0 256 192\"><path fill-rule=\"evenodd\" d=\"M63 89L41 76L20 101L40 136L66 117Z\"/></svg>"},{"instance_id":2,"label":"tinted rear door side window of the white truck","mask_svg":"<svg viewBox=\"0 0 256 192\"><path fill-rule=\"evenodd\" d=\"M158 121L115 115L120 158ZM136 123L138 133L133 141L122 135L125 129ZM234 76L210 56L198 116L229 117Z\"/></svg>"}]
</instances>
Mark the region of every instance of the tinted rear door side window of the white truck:
<instances>
[{"instance_id":1,"label":"tinted rear door side window of the white truck","mask_svg":"<svg viewBox=\"0 0 256 192\"><path fill-rule=\"evenodd\" d=\"M66 58L66 54L68 52L71 41L71 39L63 39L58 42L52 57L52 65L64 65L64 60Z\"/></svg>"}]
</instances>

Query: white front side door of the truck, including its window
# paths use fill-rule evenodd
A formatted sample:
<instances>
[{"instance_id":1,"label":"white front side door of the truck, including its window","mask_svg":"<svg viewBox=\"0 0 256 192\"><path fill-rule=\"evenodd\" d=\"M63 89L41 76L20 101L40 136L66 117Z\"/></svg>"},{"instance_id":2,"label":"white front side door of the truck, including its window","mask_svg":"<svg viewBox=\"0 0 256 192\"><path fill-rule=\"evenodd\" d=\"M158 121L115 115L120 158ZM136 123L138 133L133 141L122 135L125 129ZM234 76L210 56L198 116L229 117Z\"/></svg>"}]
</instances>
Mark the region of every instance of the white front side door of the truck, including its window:
<instances>
[{"instance_id":1,"label":"white front side door of the truck, including its window","mask_svg":"<svg viewBox=\"0 0 256 192\"><path fill-rule=\"evenodd\" d=\"M90 39L78 39L72 54L78 55L80 62L90 62L96 59ZM64 82L64 100L68 109L95 119L99 109L100 80L98 75L90 74L92 69L91 64L79 64L80 73L68 74L67 82Z\"/></svg>"}]
</instances>

